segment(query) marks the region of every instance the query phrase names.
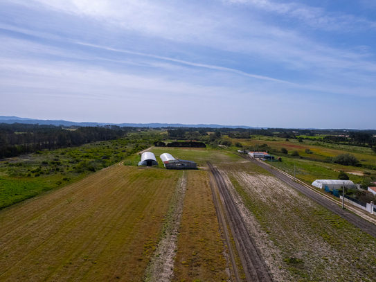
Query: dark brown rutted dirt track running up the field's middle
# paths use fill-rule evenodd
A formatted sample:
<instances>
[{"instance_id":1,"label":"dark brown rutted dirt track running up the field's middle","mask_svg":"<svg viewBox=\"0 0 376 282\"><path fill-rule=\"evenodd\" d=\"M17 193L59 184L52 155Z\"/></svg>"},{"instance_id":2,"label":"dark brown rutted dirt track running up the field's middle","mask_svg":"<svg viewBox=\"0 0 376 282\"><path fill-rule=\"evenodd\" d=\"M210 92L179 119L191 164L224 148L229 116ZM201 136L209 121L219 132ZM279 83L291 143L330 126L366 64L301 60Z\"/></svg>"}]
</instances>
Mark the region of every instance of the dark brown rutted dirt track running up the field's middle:
<instances>
[{"instance_id":1,"label":"dark brown rutted dirt track running up the field's middle","mask_svg":"<svg viewBox=\"0 0 376 282\"><path fill-rule=\"evenodd\" d=\"M208 166L215 177L220 194L224 200L226 215L229 218L233 236L237 241L237 247L240 252L240 257L242 258L247 281L271 282L272 280L267 271L267 267L262 260L262 256L260 256L253 239L249 236L247 227L242 220L242 216L240 215L233 198L231 197L226 182L217 168L212 166L209 162Z\"/></svg>"}]
</instances>

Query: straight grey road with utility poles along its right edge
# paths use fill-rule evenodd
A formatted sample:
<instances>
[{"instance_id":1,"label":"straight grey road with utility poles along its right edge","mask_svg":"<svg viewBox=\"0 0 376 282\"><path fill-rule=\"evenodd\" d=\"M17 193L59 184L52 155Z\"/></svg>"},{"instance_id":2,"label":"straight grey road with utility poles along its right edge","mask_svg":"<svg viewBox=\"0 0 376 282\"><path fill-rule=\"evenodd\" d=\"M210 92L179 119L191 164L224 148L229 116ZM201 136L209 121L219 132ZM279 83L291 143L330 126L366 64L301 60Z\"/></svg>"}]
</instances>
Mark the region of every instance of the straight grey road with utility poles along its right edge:
<instances>
[{"instance_id":1,"label":"straight grey road with utility poles along its right edge","mask_svg":"<svg viewBox=\"0 0 376 282\"><path fill-rule=\"evenodd\" d=\"M321 195L315 193L314 191L311 191L305 186L298 184L297 182L294 182L292 179L290 179L286 175L283 175L283 173L278 172L278 170L271 169L270 166L268 166L267 164L264 164L261 161L256 161L249 157L245 157L245 156L241 156L241 157L243 157L244 159L248 159L254 164L261 166L262 168L265 168L265 170L269 171L269 173L275 175L276 177L278 177L280 180L282 180L289 186L292 186L299 192L303 193L305 196L309 197L311 200L314 200L316 203L321 204L321 206L324 206L326 209L329 209L333 213L341 216L341 218L354 224L356 227L361 229L361 231L364 231L368 233L370 236L373 236L374 238L376 238L376 225L375 224L372 224L368 222L367 220L364 220L364 218L361 218L360 216L355 215L354 213L350 213L350 211L341 209L341 206L339 206L338 204L335 204L334 202L330 202L329 200L325 199L325 197L322 197Z\"/></svg>"}]
</instances>

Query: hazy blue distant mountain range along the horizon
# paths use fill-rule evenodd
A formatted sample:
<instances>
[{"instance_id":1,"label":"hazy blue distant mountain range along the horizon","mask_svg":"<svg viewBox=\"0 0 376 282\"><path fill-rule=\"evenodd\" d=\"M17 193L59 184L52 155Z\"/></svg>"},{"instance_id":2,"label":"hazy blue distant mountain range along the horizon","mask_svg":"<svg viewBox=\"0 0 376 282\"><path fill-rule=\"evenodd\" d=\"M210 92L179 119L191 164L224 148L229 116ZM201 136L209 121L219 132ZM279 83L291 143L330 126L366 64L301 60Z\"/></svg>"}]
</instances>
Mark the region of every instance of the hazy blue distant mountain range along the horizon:
<instances>
[{"instance_id":1,"label":"hazy blue distant mountain range along the horizon","mask_svg":"<svg viewBox=\"0 0 376 282\"><path fill-rule=\"evenodd\" d=\"M181 123L78 123L75 121L62 121L62 120L42 120L33 118L19 118L18 116L0 116L0 123L27 123L27 124L39 124L39 125L64 125L64 126L103 126L103 125L118 125L120 127L212 127L212 128L256 128L245 125L217 125L217 124L181 124ZM267 128L267 127L259 127Z\"/></svg>"}]
</instances>

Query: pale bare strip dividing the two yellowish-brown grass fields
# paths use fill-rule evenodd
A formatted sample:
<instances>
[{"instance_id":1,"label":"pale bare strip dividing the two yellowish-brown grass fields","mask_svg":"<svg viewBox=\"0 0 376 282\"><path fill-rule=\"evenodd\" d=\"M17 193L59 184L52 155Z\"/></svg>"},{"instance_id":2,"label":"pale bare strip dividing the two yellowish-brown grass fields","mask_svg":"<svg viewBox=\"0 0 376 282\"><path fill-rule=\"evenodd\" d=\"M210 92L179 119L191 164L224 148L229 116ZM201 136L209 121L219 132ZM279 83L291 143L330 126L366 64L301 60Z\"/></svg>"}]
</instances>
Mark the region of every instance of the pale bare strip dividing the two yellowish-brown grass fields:
<instances>
[{"instance_id":1,"label":"pale bare strip dividing the two yellowish-brown grass fields","mask_svg":"<svg viewBox=\"0 0 376 282\"><path fill-rule=\"evenodd\" d=\"M181 212L183 211L184 197L186 195L187 177L183 175L170 202L170 209L165 217L162 236L150 260L150 264L145 272L145 281L171 281L174 270L175 250L177 249L177 236L181 222Z\"/></svg>"}]
</instances>

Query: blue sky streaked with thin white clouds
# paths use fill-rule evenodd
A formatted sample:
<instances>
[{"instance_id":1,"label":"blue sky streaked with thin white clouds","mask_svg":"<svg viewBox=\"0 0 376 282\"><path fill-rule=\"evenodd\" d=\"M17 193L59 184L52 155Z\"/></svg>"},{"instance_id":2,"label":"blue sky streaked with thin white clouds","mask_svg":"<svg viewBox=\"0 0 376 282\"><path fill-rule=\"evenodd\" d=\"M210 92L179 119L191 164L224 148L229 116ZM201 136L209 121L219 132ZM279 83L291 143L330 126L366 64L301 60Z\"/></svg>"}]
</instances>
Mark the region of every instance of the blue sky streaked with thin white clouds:
<instances>
[{"instance_id":1,"label":"blue sky streaked with thin white clouds","mask_svg":"<svg viewBox=\"0 0 376 282\"><path fill-rule=\"evenodd\" d=\"M375 0L1 0L0 115L376 129Z\"/></svg>"}]
</instances>

